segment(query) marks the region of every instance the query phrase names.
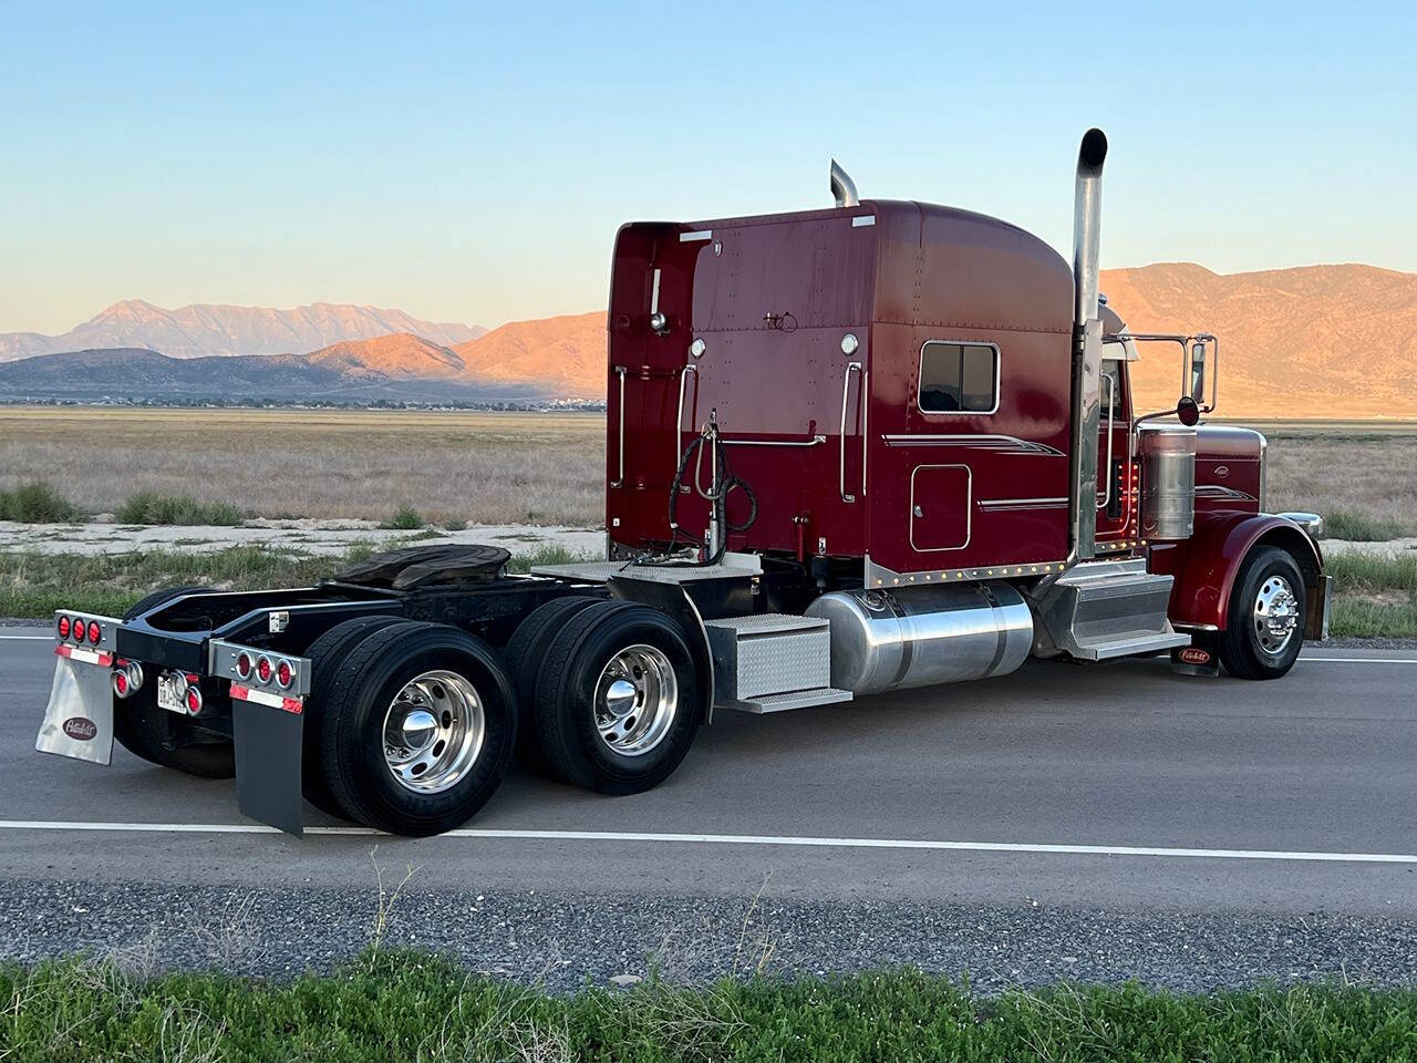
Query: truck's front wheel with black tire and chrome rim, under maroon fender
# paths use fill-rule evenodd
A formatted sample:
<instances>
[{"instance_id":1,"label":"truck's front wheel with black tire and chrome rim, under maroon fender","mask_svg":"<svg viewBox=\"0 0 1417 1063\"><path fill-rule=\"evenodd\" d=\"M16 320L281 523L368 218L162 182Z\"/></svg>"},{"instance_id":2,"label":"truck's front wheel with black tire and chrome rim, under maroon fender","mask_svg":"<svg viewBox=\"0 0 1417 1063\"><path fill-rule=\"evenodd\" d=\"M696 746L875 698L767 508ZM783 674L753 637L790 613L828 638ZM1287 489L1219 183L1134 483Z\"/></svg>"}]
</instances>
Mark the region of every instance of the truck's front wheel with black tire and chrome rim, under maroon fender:
<instances>
[{"instance_id":1,"label":"truck's front wheel with black tire and chrome rim, under maroon fender","mask_svg":"<svg viewBox=\"0 0 1417 1063\"><path fill-rule=\"evenodd\" d=\"M1287 550L1250 553L1230 592L1220 663L1240 679L1278 679L1304 648L1304 575Z\"/></svg>"}]
</instances>

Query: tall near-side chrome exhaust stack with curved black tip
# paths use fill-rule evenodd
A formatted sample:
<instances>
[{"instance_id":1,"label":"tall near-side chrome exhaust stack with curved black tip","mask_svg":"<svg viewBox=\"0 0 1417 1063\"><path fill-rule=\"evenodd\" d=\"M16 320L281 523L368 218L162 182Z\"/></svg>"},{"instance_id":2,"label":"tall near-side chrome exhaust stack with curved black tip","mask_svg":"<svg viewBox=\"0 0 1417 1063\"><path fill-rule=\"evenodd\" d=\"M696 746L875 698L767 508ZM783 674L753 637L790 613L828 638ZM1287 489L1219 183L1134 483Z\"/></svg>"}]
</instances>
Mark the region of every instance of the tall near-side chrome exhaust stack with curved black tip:
<instances>
[{"instance_id":1,"label":"tall near-side chrome exhaust stack with curved black tip","mask_svg":"<svg viewBox=\"0 0 1417 1063\"><path fill-rule=\"evenodd\" d=\"M1073 200L1073 388L1067 566L1097 556L1097 438L1101 427L1102 320L1097 305L1107 136L1088 129Z\"/></svg>"}]
</instances>

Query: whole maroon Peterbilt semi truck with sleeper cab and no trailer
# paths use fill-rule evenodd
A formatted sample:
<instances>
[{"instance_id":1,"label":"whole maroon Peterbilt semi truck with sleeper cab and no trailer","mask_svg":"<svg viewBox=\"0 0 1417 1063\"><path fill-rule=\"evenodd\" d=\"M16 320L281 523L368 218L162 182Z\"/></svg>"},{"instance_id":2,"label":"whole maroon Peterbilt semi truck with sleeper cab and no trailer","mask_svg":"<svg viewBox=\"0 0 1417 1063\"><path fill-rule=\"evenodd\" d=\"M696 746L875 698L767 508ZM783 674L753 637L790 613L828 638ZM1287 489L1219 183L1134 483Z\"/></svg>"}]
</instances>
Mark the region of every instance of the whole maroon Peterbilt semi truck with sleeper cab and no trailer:
<instances>
[{"instance_id":1,"label":"whole maroon Peterbilt semi truck with sleeper cab and no trailer","mask_svg":"<svg viewBox=\"0 0 1417 1063\"><path fill-rule=\"evenodd\" d=\"M1321 522L1265 513L1264 438L1202 422L1219 340L1129 332L1100 296L1105 154L1090 130L1071 265L995 218L862 200L835 163L835 207L625 225L604 560L514 575L434 546L65 609L38 748L234 774L293 833L307 799L427 835L513 755L646 791L728 710L869 713L1029 658L1284 676L1325 635ZM1138 407L1144 350L1179 354L1175 407Z\"/></svg>"}]
</instances>

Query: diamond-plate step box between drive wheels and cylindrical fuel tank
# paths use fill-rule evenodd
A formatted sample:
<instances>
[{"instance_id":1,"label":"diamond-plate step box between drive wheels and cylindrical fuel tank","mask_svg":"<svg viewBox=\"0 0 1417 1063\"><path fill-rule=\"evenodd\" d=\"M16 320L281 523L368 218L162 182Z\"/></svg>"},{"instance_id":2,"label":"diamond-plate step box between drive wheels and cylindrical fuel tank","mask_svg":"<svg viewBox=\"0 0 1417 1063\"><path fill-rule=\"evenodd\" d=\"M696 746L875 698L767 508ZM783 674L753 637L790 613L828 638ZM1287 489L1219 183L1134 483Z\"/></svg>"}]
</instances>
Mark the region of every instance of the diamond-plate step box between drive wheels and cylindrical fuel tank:
<instances>
[{"instance_id":1,"label":"diamond-plate step box between drive wheels and cylindrical fuel tank","mask_svg":"<svg viewBox=\"0 0 1417 1063\"><path fill-rule=\"evenodd\" d=\"M765 713L850 699L832 687L832 631L822 617L726 617L704 629L717 704Z\"/></svg>"}]
</instances>

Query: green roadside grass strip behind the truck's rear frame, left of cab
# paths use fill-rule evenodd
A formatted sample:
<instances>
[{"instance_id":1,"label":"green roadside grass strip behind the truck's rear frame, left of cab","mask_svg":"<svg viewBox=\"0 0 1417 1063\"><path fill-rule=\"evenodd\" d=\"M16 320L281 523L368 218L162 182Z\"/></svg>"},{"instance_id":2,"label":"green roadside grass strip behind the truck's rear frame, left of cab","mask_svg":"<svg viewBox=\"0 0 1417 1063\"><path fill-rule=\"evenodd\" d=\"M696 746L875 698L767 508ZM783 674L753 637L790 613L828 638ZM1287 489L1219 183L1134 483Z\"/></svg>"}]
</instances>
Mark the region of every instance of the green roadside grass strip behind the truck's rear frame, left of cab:
<instances>
[{"instance_id":1,"label":"green roadside grass strip behind the truck's rear frame, left of cab","mask_svg":"<svg viewBox=\"0 0 1417 1063\"><path fill-rule=\"evenodd\" d=\"M395 550L402 543L390 543ZM129 605L159 587L201 584L222 590L302 587L327 578L336 570L363 561L370 544L339 556L312 556L265 546L181 553L147 550L129 554L40 554L0 551L0 617L48 617L55 609L79 609L120 617ZM523 553L510 571L534 564L584 560L561 549ZM3 1059L3 1056L0 1056Z\"/></svg>"}]
</instances>

